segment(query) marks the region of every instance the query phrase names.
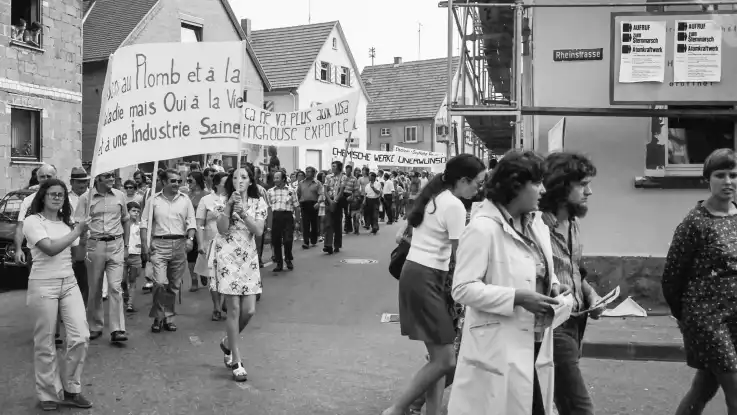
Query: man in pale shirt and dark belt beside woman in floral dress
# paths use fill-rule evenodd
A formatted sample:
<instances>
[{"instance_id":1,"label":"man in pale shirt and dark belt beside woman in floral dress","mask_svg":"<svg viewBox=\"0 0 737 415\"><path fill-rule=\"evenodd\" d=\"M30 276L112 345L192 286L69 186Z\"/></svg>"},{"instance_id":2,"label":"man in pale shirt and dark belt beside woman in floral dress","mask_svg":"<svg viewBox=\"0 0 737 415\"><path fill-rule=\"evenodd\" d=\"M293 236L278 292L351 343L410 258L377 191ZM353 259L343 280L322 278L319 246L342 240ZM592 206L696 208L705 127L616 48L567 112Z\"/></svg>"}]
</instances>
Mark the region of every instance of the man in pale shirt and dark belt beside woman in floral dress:
<instances>
[{"instance_id":1,"label":"man in pale shirt and dark belt beside woman in floral dress","mask_svg":"<svg viewBox=\"0 0 737 415\"><path fill-rule=\"evenodd\" d=\"M162 172L163 189L146 203L141 217L141 257L154 267L151 331L176 331L174 305L187 269L187 252L194 245L196 222L192 201L179 191L182 178L173 169ZM153 209L153 215L150 214ZM151 244L148 235L151 233Z\"/></svg>"}]
</instances>

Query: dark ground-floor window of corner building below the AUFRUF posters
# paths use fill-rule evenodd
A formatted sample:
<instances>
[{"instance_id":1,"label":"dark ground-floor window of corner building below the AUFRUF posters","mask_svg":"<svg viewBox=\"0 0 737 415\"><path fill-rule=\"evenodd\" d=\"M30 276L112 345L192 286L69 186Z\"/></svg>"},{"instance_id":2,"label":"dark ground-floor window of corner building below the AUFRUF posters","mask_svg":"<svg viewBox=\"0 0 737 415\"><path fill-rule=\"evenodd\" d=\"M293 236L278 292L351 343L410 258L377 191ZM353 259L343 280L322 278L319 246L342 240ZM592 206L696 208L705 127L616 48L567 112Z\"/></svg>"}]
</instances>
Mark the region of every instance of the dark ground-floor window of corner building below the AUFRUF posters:
<instances>
[{"instance_id":1,"label":"dark ground-floor window of corner building below the AUFRUF posters","mask_svg":"<svg viewBox=\"0 0 737 415\"><path fill-rule=\"evenodd\" d=\"M670 106L670 109L732 109L731 106ZM665 164L667 176L701 176L706 157L719 148L735 148L735 122L714 118L669 117L653 119L653 142L646 165ZM667 140L663 140L667 138ZM655 145L657 142L660 145ZM665 145L662 145L665 143ZM661 156L662 154L662 156ZM663 161L665 163L663 163Z\"/></svg>"}]
</instances>

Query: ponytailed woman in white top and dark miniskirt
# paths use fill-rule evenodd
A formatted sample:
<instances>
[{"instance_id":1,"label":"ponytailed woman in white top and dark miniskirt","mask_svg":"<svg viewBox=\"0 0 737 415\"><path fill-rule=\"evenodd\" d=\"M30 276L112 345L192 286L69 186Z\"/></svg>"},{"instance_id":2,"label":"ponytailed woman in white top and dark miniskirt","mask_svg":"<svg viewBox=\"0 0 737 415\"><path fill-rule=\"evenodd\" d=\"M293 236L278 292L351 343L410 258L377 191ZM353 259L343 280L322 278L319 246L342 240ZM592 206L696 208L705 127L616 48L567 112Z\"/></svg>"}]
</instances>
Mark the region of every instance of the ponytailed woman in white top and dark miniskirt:
<instances>
[{"instance_id":1,"label":"ponytailed woman in white top and dark miniskirt","mask_svg":"<svg viewBox=\"0 0 737 415\"><path fill-rule=\"evenodd\" d=\"M450 259L466 225L460 199L478 192L485 173L476 156L453 157L444 173L422 189L407 218L414 230L399 278L399 319L402 335L422 341L430 359L383 415L402 415L422 394L426 414L440 414L445 376L455 367L456 332L444 292Z\"/></svg>"}]
</instances>

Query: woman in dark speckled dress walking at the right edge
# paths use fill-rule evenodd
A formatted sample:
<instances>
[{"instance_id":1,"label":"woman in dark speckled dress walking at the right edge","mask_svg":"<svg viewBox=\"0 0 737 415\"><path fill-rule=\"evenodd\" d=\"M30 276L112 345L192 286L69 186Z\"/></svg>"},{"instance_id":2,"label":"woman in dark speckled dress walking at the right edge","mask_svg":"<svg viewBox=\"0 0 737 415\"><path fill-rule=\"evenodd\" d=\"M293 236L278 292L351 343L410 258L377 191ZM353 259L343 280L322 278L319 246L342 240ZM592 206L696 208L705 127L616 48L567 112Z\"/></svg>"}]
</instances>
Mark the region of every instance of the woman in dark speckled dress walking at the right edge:
<instances>
[{"instance_id":1,"label":"woman in dark speckled dress walking at the right edge","mask_svg":"<svg viewBox=\"0 0 737 415\"><path fill-rule=\"evenodd\" d=\"M711 196L676 228L663 270L663 296L697 370L677 415L699 415L724 390L737 415L737 155L719 149L704 162Z\"/></svg>"}]
</instances>

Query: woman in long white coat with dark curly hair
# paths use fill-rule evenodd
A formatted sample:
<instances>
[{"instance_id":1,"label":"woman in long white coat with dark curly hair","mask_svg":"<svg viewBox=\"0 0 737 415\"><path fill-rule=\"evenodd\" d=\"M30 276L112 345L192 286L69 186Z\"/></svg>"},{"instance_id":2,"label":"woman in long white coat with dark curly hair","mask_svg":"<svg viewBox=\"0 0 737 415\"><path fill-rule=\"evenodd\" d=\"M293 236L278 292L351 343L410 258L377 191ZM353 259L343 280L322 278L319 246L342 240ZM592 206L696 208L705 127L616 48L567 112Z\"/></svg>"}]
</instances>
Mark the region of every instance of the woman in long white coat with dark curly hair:
<instances>
[{"instance_id":1,"label":"woman in long white coat with dark curly hair","mask_svg":"<svg viewBox=\"0 0 737 415\"><path fill-rule=\"evenodd\" d=\"M461 235L452 293L466 316L448 415L553 413L553 337L536 322L568 288L536 211L542 164L507 153Z\"/></svg>"}]
</instances>

